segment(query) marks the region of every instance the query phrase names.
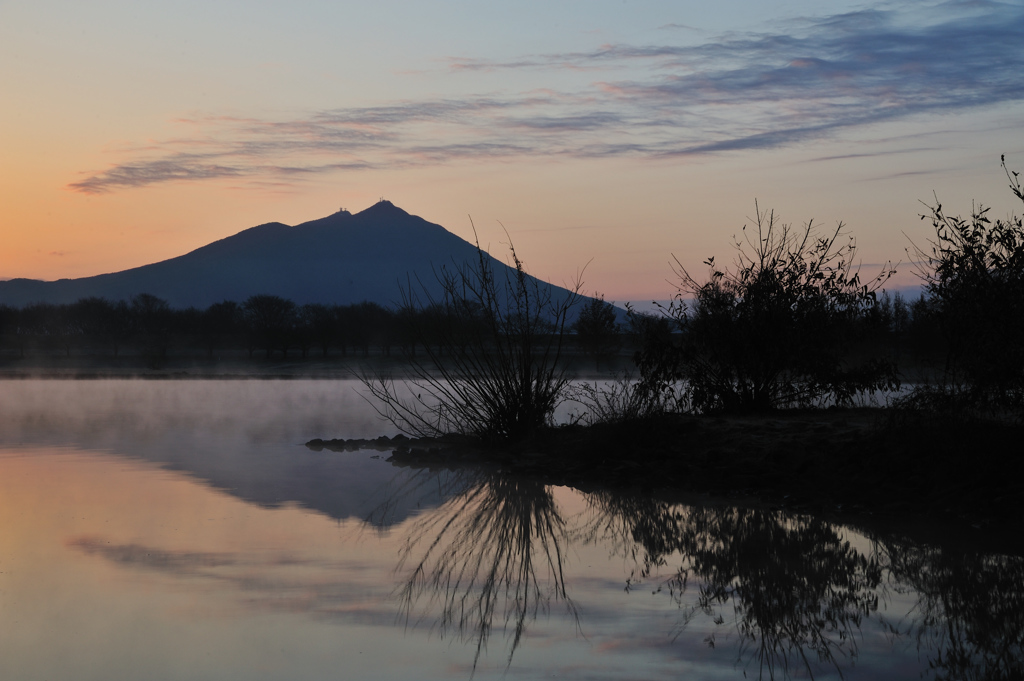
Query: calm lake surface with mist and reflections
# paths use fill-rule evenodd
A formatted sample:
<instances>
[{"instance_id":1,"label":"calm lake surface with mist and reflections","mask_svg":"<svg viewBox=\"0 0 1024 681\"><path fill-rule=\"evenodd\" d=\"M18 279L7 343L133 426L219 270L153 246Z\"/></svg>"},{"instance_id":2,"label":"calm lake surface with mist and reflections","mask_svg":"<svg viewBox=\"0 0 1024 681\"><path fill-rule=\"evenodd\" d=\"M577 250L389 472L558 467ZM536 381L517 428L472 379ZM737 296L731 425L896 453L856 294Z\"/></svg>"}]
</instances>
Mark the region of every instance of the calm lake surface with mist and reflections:
<instances>
[{"instance_id":1,"label":"calm lake surface with mist and reflections","mask_svg":"<svg viewBox=\"0 0 1024 681\"><path fill-rule=\"evenodd\" d=\"M315 452L351 381L0 381L0 679L1012 678L1024 560Z\"/></svg>"}]
</instances>

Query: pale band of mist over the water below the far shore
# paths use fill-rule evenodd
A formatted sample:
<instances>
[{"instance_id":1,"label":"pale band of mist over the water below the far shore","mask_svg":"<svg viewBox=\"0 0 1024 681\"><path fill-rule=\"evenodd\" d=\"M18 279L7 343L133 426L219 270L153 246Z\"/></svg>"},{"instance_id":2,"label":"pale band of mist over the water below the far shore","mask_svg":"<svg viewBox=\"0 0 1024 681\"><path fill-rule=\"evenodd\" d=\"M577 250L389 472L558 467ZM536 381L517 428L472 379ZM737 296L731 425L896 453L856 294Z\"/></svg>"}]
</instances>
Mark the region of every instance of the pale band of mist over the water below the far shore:
<instances>
[{"instance_id":1,"label":"pale band of mist over the water below the far shore","mask_svg":"<svg viewBox=\"0 0 1024 681\"><path fill-rule=\"evenodd\" d=\"M4 442L199 434L227 441L377 437L397 430L369 409L358 381L24 380L0 391Z\"/></svg>"}]
</instances>

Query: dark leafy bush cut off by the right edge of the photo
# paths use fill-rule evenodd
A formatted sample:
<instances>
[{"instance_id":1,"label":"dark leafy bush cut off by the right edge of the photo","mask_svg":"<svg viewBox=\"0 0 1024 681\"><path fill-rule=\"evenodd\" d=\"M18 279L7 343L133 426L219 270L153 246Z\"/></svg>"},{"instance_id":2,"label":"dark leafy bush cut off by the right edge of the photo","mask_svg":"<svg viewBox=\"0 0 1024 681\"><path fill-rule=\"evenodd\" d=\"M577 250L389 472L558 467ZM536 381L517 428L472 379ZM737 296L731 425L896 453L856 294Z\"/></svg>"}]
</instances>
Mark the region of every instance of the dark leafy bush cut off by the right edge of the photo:
<instances>
[{"instance_id":1,"label":"dark leafy bush cut off by the right edge of the photo","mask_svg":"<svg viewBox=\"0 0 1024 681\"><path fill-rule=\"evenodd\" d=\"M1004 172L1024 202L1019 173ZM943 390L975 407L1024 403L1024 221L989 217L981 205L971 217L949 216L936 199L922 219L935 229L921 274L947 345ZM933 391L934 392L934 391ZM957 399L957 401L963 401Z\"/></svg>"}]
</instances>

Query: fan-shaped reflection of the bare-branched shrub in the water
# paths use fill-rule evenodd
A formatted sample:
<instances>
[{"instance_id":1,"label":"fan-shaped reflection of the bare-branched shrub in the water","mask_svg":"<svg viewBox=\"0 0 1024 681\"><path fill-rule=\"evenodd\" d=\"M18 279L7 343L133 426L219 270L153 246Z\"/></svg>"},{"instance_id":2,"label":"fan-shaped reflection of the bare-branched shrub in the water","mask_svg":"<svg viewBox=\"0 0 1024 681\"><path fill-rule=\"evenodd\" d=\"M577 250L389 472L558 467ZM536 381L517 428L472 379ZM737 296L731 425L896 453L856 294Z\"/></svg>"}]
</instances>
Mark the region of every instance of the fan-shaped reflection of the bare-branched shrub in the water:
<instances>
[{"instance_id":1,"label":"fan-shaped reflection of the bare-branched shrub in the water","mask_svg":"<svg viewBox=\"0 0 1024 681\"><path fill-rule=\"evenodd\" d=\"M552 598L575 616L562 574L565 523L539 482L482 476L416 523L398 570L415 565L400 589L407 622L424 596L440 607L441 634L475 640L475 670L492 623L504 620L508 664L527 624ZM547 570L539 579L538 570Z\"/></svg>"}]
</instances>

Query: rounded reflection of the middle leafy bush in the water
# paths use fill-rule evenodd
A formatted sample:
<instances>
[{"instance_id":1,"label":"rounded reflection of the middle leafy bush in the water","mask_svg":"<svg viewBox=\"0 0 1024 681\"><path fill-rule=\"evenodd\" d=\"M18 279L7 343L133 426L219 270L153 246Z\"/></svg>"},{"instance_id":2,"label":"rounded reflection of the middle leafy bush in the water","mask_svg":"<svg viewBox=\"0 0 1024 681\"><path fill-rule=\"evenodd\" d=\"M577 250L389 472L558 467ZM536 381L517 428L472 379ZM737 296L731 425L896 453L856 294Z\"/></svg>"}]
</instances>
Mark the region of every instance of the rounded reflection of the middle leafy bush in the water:
<instances>
[{"instance_id":1,"label":"rounded reflection of the middle leafy bush in the water","mask_svg":"<svg viewBox=\"0 0 1024 681\"><path fill-rule=\"evenodd\" d=\"M700 509L680 540L686 560L674 580L677 598L693 577L702 582L695 608L721 621L731 604L741 654L749 649L762 672L785 671L791 659L810 671L808 653L837 670L844 657L856 657L855 635L878 609L882 570L834 525L765 511Z\"/></svg>"}]
</instances>

